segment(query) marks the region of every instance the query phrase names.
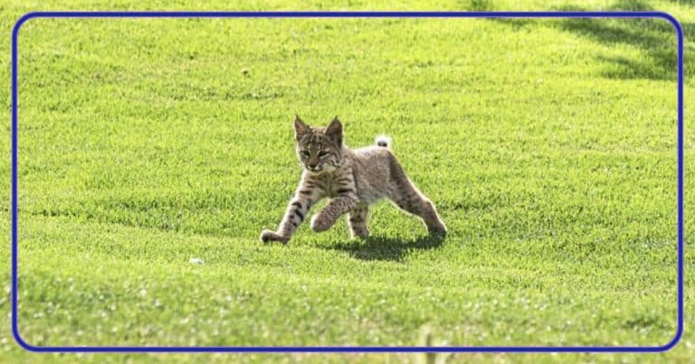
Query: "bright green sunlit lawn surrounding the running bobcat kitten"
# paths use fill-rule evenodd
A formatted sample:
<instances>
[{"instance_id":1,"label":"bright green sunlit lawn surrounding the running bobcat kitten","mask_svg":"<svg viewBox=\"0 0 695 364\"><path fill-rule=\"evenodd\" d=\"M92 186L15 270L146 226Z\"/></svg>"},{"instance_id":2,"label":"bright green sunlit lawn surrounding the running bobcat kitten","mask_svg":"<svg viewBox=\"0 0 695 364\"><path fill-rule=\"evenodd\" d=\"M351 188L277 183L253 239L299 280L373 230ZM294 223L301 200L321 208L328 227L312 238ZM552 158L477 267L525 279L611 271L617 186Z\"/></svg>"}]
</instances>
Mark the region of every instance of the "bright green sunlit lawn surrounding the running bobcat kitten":
<instances>
[{"instance_id":1,"label":"bright green sunlit lawn surrounding the running bobcat kitten","mask_svg":"<svg viewBox=\"0 0 695 364\"><path fill-rule=\"evenodd\" d=\"M681 3L631 8L671 11L691 34L694 8ZM0 14L3 34L32 10L22 6ZM675 332L675 36L664 21L33 19L19 80L19 322L33 345L631 346ZM313 125L338 115L352 146L392 136L447 238L433 243L383 203L367 242L341 221L262 245L299 178L295 113ZM690 135L686 145L692 159ZM7 328L0 337L17 355ZM646 359L685 361L692 341ZM197 357L81 357L172 358Z\"/></svg>"}]
</instances>

